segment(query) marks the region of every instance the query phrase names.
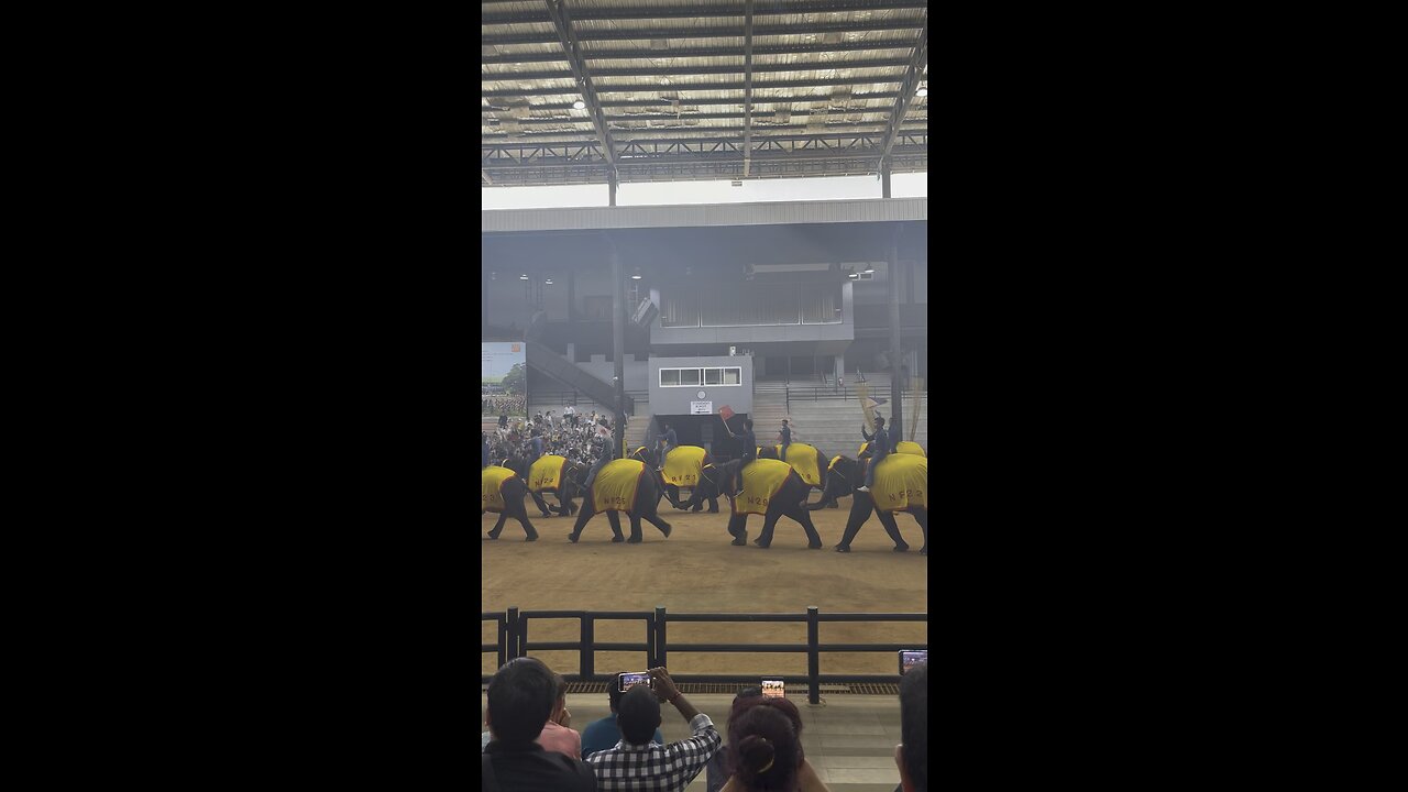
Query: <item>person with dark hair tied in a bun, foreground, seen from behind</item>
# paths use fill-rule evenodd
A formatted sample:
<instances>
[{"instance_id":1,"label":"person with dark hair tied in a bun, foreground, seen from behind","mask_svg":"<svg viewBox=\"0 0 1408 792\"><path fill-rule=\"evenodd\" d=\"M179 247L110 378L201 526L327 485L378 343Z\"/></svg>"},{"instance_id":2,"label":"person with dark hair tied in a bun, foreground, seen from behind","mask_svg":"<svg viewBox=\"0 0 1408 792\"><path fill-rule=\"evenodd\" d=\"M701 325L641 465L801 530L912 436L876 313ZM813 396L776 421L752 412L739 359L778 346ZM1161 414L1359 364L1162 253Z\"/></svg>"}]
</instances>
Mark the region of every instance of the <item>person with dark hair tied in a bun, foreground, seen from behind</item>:
<instances>
[{"instance_id":1,"label":"person with dark hair tied in a bun, foreground, seen from behind","mask_svg":"<svg viewBox=\"0 0 1408 792\"><path fill-rule=\"evenodd\" d=\"M734 774L722 792L829 792L803 753L801 716L791 702L736 702L728 738L725 764Z\"/></svg>"}]
</instances>

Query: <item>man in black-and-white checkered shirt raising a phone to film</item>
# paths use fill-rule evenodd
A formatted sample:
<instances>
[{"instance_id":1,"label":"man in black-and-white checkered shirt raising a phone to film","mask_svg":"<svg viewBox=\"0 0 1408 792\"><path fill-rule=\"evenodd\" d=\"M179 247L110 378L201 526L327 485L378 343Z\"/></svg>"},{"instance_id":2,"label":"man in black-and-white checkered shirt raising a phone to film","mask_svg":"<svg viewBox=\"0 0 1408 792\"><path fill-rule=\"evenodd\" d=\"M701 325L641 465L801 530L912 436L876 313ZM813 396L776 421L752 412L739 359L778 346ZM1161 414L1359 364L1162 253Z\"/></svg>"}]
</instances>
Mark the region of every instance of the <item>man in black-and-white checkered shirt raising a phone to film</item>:
<instances>
[{"instance_id":1,"label":"man in black-and-white checkered shirt raising a phone to film","mask_svg":"<svg viewBox=\"0 0 1408 792\"><path fill-rule=\"evenodd\" d=\"M650 740L660 726L660 702L690 722L689 740L669 745ZM601 792L684 792L724 743L714 722L694 709L663 668L650 669L649 686L635 685L621 696L617 724L621 741L587 758Z\"/></svg>"}]
</instances>

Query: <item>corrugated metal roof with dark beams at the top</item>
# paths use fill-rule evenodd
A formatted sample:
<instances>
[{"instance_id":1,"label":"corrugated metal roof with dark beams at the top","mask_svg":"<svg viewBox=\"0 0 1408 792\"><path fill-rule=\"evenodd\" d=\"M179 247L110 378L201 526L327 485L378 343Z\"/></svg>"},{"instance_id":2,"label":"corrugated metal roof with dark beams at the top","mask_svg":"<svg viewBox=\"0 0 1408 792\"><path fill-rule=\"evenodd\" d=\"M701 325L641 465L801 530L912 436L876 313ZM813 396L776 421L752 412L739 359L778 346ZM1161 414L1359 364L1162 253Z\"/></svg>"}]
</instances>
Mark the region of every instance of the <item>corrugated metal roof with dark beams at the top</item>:
<instances>
[{"instance_id":1,"label":"corrugated metal roof with dark beams at the top","mask_svg":"<svg viewBox=\"0 0 1408 792\"><path fill-rule=\"evenodd\" d=\"M605 180L611 166L596 111L615 144L611 152L629 159L617 168L622 180L742 178L745 154L763 152L767 165L748 178L867 172L863 158L873 161L869 172L874 172L886 151L900 154L891 162L897 171L925 166L928 106L912 96L918 80L926 79L922 1L755 3L752 35L743 8L743 0L573 0L566 17L553 21L545 0L486 1L484 182ZM563 48L565 37L577 41L580 63ZM574 70L586 73L586 85ZM901 93L911 110L895 128ZM576 110L574 101L587 107ZM845 134L852 138L836 138ZM811 135L818 145L797 145L798 135ZM729 145L708 142L725 140ZM660 145L669 141L704 144ZM790 142L779 148L770 145L774 141ZM560 148L567 145L574 148ZM632 151L620 151L621 145ZM839 154L818 163L828 151ZM727 162L734 162L734 173ZM560 182L553 180L555 169Z\"/></svg>"}]
</instances>

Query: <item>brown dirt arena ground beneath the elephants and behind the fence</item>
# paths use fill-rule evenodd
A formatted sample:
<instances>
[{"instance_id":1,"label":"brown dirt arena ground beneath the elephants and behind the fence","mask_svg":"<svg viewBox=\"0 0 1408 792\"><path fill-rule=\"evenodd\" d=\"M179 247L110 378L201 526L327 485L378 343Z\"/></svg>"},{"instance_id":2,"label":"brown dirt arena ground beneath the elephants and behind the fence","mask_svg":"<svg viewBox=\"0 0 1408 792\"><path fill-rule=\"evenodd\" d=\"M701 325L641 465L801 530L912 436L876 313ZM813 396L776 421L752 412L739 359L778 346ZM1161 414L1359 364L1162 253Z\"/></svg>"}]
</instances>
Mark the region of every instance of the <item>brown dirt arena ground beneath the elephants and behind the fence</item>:
<instances>
[{"instance_id":1,"label":"brown dirt arena ground beneath the elephants and behind the fence","mask_svg":"<svg viewBox=\"0 0 1408 792\"><path fill-rule=\"evenodd\" d=\"M812 500L817 499L814 492ZM548 496L548 502L555 500ZM520 610L653 610L665 606L672 613L797 613L807 606L821 613L926 613L928 562L919 555L924 534L914 517L897 519L900 533L910 544L908 552L894 552L880 521L872 516L852 544L852 552L835 552L841 541L850 499L841 499L839 509L812 512L812 523L825 543L822 550L807 550L801 526L783 517L773 544L762 550L752 544L762 531L763 519L749 517L746 547L732 547L728 536L728 502L719 513L686 513L660 502L660 516L670 523L670 538L642 520L643 544L612 544L611 526L604 514L594 516L583 528L582 541L572 544L567 534L573 519L538 517L529 500L529 519L539 540L524 543L524 530L515 520L504 524L498 540L489 540L497 514L480 519L480 606L482 612ZM629 523L622 519L629 536ZM822 623L822 643L915 643L928 641L922 623ZM534 620L529 641L576 640L577 620ZM482 624L482 638L497 638L493 623ZM643 641L642 621L598 621L597 641ZM669 626L674 643L805 643L804 623L679 623ZM552 668L574 674L579 658L570 651L532 652ZM493 674L497 658L482 655L482 672ZM670 671L679 674L805 674L807 655L756 652L670 652ZM597 652L598 672L645 668L643 652ZM894 674L893 652L822 652L822 674Z\"/></svg>"}]
</instances>

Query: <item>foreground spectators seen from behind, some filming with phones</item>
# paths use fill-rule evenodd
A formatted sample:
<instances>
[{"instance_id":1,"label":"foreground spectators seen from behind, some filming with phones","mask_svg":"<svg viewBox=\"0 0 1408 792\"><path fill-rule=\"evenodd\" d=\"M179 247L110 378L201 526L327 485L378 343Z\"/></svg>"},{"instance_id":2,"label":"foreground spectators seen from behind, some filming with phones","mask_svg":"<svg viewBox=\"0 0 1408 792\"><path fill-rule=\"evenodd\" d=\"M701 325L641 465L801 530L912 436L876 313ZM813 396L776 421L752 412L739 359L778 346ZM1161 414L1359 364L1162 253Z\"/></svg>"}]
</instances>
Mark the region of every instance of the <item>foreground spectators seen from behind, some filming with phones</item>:
<instances>
[{"instance_id":1,"label":"foreground spectators seen from behind, some filming with phones","mask_svg":"<svg viewBox=\"0 0 1408 792\"><path fill-rule=\"evenodd\" d=\"M708 789L722 792L826 792L801 745L803 720L787 699L758 688L739 691L728 717L729 744L712 720L680 693L665 668L649 683L612 692L611 716L591 723L583 738L570 729L566 682L535 658L498 669L489 685L482 736L482 784L491 791L684 792L708 765ZM612 678L612 688L621 676ZM928 792L928 662L900 681L903 743L895 747L900 786ZM690 724L690 737L666 743L663 703ZM584 761L586 760L586 761Z\"/></svg>"}]
</instances>

